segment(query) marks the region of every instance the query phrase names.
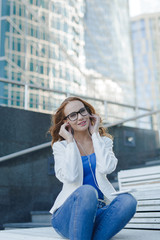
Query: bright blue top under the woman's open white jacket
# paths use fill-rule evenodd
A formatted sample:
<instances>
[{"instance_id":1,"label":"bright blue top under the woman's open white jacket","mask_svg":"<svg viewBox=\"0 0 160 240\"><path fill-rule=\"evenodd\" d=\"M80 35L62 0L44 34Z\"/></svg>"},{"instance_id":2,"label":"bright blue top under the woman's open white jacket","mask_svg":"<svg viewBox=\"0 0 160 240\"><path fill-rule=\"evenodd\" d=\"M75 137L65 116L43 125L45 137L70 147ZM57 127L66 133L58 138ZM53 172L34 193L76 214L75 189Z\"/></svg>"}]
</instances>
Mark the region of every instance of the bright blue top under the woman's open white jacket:
<instances>
[{"instance_id":1,"label":"bright blue top under the woman's open white jacket","mask_svg":"<svg viewBox=\"0 0 160 240\"><path fill-rule=\"evenodd\" d=\"M94 174L94 178L93 178L90 166L89 166L89 160L88 160L89 157L90 157L90 163L91 163L91 167L92 167L92 172ZM103 193L96 186L96 185L98 185L98 183L97 183L96 176L95 176L95 169L96 169L95 153L92 153L87 156L81 156L81 158L82 158L82 163L83 163L83 184L89 184L89 185L93 186L98 192L98 198L104 199ZM95 181L96 181L96 184L95 184Z\"/></svg>"}]
</instances>

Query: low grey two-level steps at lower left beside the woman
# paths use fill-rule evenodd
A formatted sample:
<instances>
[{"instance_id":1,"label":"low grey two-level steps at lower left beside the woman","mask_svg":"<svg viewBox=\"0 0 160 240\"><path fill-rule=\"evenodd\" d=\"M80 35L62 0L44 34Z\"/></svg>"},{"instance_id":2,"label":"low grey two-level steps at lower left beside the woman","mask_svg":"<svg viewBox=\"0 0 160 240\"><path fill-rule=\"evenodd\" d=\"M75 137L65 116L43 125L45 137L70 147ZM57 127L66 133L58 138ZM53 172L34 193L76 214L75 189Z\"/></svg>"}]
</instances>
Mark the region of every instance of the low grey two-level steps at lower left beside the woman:
<instances>
[{"instance_id":1,"label":"low grey two-level steps at lower left beside the woman","mask_svg":"<svg viewBox=\"0 0 160 240\"><path fill-rule=\"evenodd\" d=\"M13 228L39 228L51 226L51 214L48 211L32 211L30 212L31 222L24 223L5 223L4 229Z\"/></svg>"}]
</instances>

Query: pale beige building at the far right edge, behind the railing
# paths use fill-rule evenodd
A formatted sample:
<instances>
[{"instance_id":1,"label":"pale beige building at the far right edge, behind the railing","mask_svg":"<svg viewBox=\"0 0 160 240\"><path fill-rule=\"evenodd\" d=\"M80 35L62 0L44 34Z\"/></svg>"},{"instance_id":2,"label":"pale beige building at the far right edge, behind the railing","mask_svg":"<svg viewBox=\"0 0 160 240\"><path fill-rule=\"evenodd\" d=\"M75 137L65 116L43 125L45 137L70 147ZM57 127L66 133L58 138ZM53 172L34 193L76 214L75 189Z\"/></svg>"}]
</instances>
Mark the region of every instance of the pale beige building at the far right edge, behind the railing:
<instances>
[{"instance_id":1,"label":"pale beige building at the far right edge, behind the railing","mask_svg":"<svg viewBox=\"0 0 160 240\"><path fill-rule=\"evenodd\" d=\"M159 19L160 13L152 13L131 22L137 103L154 110L160 109Z\"/></svg>"}]
</instances>

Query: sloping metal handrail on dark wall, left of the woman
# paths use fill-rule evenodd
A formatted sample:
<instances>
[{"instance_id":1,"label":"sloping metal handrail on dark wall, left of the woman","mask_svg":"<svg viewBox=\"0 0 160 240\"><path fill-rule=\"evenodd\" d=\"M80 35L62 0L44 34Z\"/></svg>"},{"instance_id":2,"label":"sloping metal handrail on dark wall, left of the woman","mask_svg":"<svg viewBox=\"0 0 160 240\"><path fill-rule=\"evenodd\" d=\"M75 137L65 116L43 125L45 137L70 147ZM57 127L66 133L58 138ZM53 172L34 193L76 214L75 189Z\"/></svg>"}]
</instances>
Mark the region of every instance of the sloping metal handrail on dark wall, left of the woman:
<instances>
[{"instance_id":1,"label":"sloping metal handrail on dark wall, left of the woman","mask_svg":"<svg viewBox=\"0 0 160 240\"><path fill-rule=\"evenodd\" d=\"M46 147L49 147L49 146L51 146L51 142L43 143L43 144L31 147L31 148L27 148L25 150L21 150L19 152L11 153L9 155L0 157L0 162L9 160L11 158L19 157L19 156L27 154L27 153L35 152L37 150L40 150L40 149L43 149L43 148L46 148Z\"/></svg>"}]
</instances>

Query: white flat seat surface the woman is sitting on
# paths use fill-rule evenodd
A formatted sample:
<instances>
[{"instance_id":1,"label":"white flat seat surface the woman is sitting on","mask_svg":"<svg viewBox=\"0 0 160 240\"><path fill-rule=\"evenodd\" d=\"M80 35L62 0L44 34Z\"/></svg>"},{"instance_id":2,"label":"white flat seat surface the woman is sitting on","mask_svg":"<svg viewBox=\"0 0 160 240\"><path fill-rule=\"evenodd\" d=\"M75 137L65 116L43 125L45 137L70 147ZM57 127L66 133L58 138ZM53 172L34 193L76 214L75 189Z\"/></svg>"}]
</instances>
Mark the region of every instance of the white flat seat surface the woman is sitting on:
<instances>
[{"instance_id":1,"label":"white flat seat surface the woman is sitting on","mask_svg":"<svg viewBox=\"0 0 160 240\"><path fill-rule=\"evenodd\" d=\"M0 231L1 240L60 240L52 227ZM102 240L102 239L100 239ZM124 229L112 240L160 240L160 231Z\"/></svg>"}]
</instances>

